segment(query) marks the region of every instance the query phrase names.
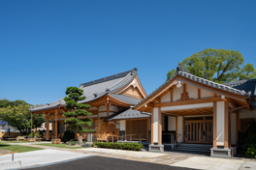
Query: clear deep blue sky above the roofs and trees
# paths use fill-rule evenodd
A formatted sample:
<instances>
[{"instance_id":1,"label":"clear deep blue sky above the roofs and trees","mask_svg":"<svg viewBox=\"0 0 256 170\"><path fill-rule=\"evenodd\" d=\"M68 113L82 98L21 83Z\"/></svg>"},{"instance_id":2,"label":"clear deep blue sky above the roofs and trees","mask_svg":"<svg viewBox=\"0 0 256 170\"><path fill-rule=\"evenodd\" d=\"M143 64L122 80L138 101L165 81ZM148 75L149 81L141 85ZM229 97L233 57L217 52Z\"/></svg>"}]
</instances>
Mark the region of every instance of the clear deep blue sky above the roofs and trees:
<instances>
[{"instance_id":1,"label":"clear deep blue sky above the roofs and trees","mask_svg":"<svg viewBox=\"0 0 256 170\"><path fill-rule=\"evenodd\" d=\"M208 47L256 66L255 9L255 0L1 0L0 99L48 103L133 68L149 94Z\"/></svg>"}]
</instances>

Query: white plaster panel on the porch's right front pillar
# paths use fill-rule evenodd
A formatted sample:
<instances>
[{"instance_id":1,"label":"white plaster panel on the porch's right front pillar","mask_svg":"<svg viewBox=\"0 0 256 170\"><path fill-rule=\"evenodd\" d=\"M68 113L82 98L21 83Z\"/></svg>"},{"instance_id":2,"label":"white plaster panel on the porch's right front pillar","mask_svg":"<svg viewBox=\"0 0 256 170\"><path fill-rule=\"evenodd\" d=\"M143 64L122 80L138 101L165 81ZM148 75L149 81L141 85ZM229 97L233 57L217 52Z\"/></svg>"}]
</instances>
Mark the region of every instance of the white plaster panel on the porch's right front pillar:
<instances>
[{"instance_id":1,"label":"white plaster panel on the porch's right front pillar","mask_svg":"<svg viewBox=\"0 0 256 170\"><path fill-rule=\"evenodd\" d=\"M224 146L225 102L217 102L217 146Z\"/></svg>"}]
</instances>

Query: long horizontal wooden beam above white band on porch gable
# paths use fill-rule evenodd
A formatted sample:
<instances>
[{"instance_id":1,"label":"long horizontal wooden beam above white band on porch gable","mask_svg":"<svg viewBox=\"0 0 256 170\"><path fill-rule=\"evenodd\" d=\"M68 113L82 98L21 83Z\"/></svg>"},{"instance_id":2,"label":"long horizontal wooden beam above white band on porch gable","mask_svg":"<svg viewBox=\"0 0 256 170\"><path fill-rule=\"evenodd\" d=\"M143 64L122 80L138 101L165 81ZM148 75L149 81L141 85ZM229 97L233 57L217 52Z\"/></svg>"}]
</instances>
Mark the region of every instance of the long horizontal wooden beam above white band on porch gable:
<instances>
[{"instance_id":1,"label":"long horizontal wooden beam above white band on porch gable","mask_svg":"<svg viewBox=\"0 0 256 170\"><path fill-rule=\"evenodd\" d=\"M222 101L222 100L223 99L221 99L221 97L206 98L206 99L178 100L178 101L175 101L175 102L155 103L155 104L153 104L153 107L167 107L167 106L176 106L176 105L189 105L189 104L198 104L198 103Z\"/></svg>"}]
</instances>

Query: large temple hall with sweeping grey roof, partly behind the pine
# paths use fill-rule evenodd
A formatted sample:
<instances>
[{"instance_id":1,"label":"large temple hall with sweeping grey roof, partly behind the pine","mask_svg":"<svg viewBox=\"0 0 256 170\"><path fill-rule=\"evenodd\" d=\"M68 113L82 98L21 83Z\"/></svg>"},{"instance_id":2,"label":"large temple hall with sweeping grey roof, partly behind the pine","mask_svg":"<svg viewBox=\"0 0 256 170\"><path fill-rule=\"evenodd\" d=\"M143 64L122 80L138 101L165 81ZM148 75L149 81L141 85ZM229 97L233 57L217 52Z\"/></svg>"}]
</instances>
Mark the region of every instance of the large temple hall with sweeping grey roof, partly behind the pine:
<instances>
[{"instance_id":1,"label":"large temple hall with sweeping grey roof, partly behind the pine","mask_svg":"<svg viewBox=\"0 0 256 170\"><path fill-rule=\"evenodd\" d=\"M132 107L146 97L137 69L80 84L86 99L81 103L90 104L95 129L94 135L100 141L108 141L108 136L116 140L148 141L150 113L135 111ZM30 109L33 114L45 114L47 119L46 139L61 138L65 131L64 99ZM85 119L80 116L79 119ZM52 135L49 135L49 122L52 122ZM86 136L86 133L83 134ZM94 140L96 140L94 138Z\"/></svg>"}]
</instances>

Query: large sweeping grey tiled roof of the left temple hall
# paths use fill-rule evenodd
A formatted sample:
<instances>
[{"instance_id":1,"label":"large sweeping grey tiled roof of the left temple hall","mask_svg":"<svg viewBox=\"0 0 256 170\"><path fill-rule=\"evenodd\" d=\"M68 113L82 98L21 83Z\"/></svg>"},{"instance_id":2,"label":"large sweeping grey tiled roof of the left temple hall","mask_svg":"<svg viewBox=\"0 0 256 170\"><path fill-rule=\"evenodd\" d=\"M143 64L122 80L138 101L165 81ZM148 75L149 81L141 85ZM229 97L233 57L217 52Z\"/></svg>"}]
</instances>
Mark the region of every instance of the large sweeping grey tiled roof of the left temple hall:
<instances>
[{"instance_id":1,"label":"large sweeping grey tiled roof of the left temple hall","mask_svg":"<svg viewBox=\"0 0 256 170\"><path fill-rule=\"evenodd\" d=\"M112 93L126 86L130 81L132 81L135 78L136 75L137 69L134 69L131 71L124 71L87 83L82 83L80 84L80 89L83 90L83 96L85 96L86 99L80 102L88 102L95 99L100 99L103 96L110 94L113 98L123 99L122 101L126 103L135 104L138 102L138 99L126 97L124 95L116 96ZM50 108L55 108L58 105L65 105L65 101L63 98L58 99L54 102L50 102L48 104L31 107L30 111L46 110Z\"/></svg>"}]
</instances>

